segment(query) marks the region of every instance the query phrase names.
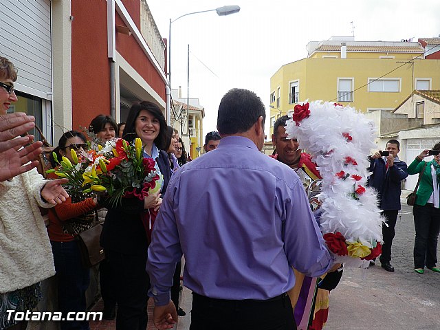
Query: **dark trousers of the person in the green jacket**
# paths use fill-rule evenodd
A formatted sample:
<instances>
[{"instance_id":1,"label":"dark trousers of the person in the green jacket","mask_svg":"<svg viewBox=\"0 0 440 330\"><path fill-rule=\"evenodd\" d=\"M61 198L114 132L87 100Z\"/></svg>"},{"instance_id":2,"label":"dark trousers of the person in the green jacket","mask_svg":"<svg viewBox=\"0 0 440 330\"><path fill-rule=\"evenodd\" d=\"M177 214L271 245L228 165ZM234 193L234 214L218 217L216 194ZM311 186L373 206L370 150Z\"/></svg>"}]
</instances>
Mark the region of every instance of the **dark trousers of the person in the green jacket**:
<instances>
[{"instance_id":1,"label":"dark trousers of the person in the green jacket","mask_svg":"<svg viewBox=\"0 0 440 330\"><path fill-rule=\"evenodd\" d=\"M440 209L432 204L415 205L414 267L434 267L437 264L437 239L440 232Z\"/></svg>"}]
</instances>

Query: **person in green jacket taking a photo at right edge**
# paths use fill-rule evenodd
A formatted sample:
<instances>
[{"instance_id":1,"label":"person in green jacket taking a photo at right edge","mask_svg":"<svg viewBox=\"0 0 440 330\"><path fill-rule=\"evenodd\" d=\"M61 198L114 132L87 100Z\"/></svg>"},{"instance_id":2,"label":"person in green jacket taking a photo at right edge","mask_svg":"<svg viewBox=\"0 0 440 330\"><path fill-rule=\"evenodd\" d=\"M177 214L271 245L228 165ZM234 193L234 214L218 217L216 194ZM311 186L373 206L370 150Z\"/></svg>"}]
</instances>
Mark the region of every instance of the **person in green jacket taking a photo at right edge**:
<instances>
[{"instance_id":1,"label":"person in green jacket taking a photo at right edge","mask_svg":"<svg viewBox=\"0 0 440 330\"><path fill-rule=\"evenodd\" d=\"M437 239L440 232L440 142L432 150L424 150L408 166L408 174L419 173L420 183L412 214L414 214L414 270L423 274L425 266L440 273L437 264ZM430 162L424 157L434 155Z\"/></svg>"}]
</instances>

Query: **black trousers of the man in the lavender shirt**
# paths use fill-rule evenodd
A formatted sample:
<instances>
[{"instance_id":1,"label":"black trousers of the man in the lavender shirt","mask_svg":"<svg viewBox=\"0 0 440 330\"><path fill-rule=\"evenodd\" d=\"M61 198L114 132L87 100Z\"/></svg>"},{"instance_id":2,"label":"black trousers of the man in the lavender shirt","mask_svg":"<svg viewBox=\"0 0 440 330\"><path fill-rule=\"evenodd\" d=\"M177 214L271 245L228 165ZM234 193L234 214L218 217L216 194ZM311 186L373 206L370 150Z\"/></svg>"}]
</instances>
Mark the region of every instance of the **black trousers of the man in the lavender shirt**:
<instances>
[{"instance_id":1,"label":"black trousers of the man in the lavender shirt","mask_svg":"<svg viewBox=\"0 0 440 330\"><path fill-rule=\"evenodd\" d=\"M192 293L190 330L296 330L289 296L223 300Z\"/></svg>"}]
</instances>

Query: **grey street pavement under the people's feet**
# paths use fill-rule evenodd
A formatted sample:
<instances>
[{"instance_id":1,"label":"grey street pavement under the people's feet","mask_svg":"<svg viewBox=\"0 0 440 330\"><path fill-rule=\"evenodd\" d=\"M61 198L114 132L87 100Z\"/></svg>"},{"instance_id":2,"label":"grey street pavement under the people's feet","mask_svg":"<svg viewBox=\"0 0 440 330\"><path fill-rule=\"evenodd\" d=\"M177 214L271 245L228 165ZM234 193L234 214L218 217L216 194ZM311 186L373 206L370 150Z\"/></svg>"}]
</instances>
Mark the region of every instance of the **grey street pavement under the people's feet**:
<instances>
[{"instance_id":1,"label":"grey street pavement under the people's feet","mask_svg":"<svg viewBox=\"0 0 440 330\"><path fill-rule=\"evenodd\" d=\"M340 284L330 295L325 330L440 330L440 274L430 270L422 275L414 272L415 230L406 195L408 191L402 192L402 210L393 241L391 264L395 272L386 272L379 260L365 271L344 270ZM440 249L437 255L440 256ZM181 307L186 316L179 318L177 329L186 330L191 309L191 294L186 288Z\"/></svg>"}]
</instances>

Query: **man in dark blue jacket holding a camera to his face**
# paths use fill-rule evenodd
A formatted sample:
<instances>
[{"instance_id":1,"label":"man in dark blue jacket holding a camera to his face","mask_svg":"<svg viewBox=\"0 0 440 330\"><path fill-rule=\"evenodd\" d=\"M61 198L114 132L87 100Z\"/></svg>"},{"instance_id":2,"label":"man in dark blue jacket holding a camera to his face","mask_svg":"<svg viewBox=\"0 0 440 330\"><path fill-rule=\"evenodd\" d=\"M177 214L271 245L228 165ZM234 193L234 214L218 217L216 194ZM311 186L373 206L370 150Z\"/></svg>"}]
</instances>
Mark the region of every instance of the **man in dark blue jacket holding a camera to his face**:
<instances>
[{"instance_id":1,"label":"man in dark blue jacket holding a camera to his face","mask_svg":"<svg viewBox=\"0 0 440 330\"><path fill-rule=\"evenodd\" d=\"M397 157L400 151L399 141L389 140L385 148L386 151L377 151L369 156L369 170L372 172L369 177L369 186L377 190L379 208L386 218L386 223L382 224L384 244L379 260L384 270L394 272L394 267L390 263L391 244L395 236L397 213L400 210L401 180L408 177L408 170L406 163ZM374 265L374 262L371 264Z\"/></svg>"}]
</instances>

